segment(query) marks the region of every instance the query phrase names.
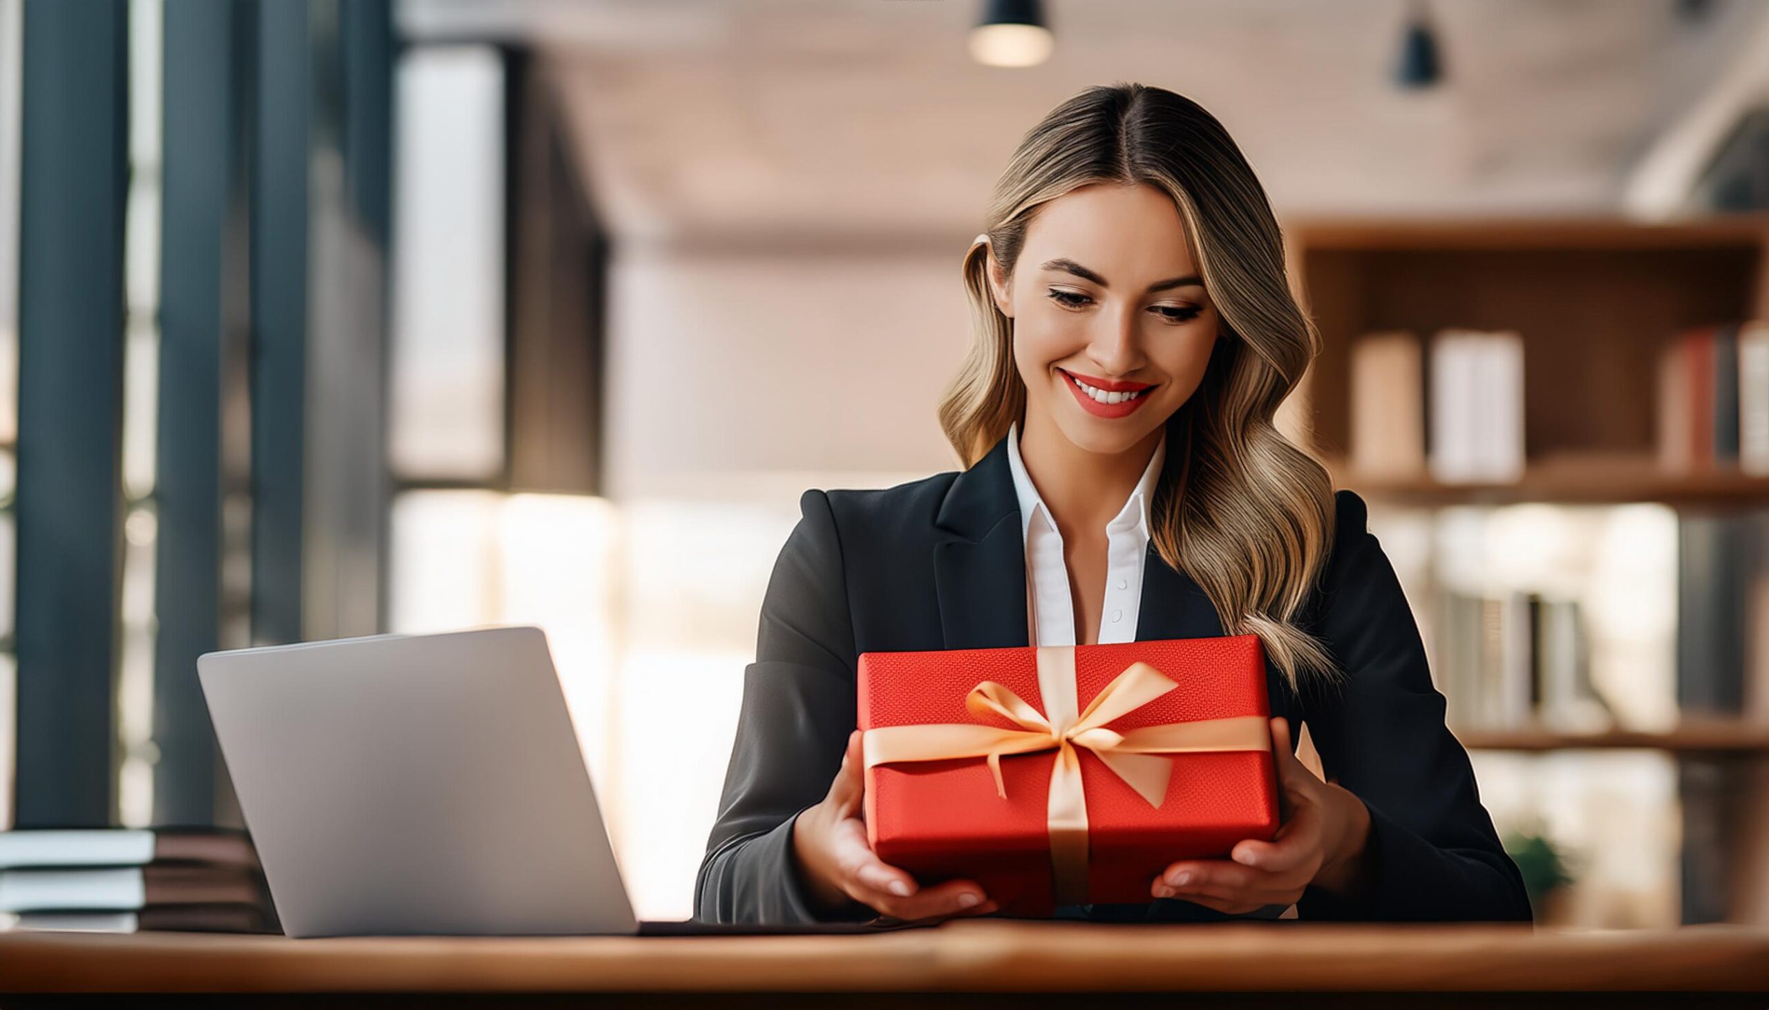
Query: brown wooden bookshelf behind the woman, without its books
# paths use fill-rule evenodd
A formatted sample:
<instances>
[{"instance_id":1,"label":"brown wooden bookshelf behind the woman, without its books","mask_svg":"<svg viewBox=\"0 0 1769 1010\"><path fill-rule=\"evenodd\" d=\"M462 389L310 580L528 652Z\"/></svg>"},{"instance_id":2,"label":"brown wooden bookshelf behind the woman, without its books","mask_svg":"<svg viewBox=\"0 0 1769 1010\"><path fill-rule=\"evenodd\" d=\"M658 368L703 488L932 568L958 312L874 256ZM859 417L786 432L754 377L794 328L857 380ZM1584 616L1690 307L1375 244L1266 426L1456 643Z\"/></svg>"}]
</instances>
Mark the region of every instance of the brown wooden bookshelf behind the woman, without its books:
<instances>
[{"instance_id":1,"label":"brown wooden bookshelf behind the woman, without its books","mask_svg":"<svg viewBox=\"0 0 1769 1010\"><path fill-rule=\"evenodd\" d=\"M1371 502L1769 506L1769 478L1735 463L1670 471L1659 460L1663 350L1700 325L1769 318L1769 212L1681 223L1553 219L1291 219L1286 264L1321 347L1281 416L1327 462L1334 486ZM1514 331L1523 341L1523 476L1449 485L1350 463L1352 357L1360 336ZM1451 715L1454 720L1454 713ZM1684 718L1649 732L1550 725L1454 727L1470 750L1658 750L1681 769L1735 773L1721 867L1728 916L1769 923L1769 720ZM1679 778L1681 787L1684 778ZM1712 782L1693 778L1691 782ZM1684 801L1691 796L1684 792ZM1712 796L1709 796L1712 800Z\"/></svg>"}]
</instances>

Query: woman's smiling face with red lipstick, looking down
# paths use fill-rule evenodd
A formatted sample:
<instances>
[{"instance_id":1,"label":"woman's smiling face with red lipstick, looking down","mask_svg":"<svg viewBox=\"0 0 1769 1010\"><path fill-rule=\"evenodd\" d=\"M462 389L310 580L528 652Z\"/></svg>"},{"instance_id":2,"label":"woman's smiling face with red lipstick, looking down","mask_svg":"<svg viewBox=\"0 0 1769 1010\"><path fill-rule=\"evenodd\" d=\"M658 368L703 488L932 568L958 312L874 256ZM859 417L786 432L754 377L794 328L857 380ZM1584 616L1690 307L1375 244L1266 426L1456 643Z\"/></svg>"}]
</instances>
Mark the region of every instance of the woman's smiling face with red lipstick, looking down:
<instances>
[{"instance_id":1,"label":"woman's smiling face with red lipstick, looking down","mask_svg":"<svg viewBox=\"0 0 1769 1010\"><path fill-rule=\"evenodd\" d=\"M1028 428L1042 416L1076 446L1116 455L1185 403L1219 324L1189 249L1164 191L1093 184L1038 209L1012 278L989 255Z\"/></svg>"}]
</instances>

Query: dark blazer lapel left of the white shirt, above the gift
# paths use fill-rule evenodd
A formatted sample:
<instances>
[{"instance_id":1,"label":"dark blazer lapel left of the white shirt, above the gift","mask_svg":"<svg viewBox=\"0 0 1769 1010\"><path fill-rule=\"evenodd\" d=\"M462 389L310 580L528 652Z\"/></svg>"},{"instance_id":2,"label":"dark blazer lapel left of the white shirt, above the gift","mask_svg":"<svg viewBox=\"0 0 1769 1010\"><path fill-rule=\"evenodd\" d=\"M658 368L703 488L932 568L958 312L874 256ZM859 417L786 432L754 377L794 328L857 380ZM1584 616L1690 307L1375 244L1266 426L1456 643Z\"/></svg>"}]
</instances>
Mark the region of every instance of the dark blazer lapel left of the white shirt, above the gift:
<instances>
[{"instance_id":1,"label":"dark blazer lapel left of the white shirt, above the gift","mask_svg":"<svg viewBox=\"0 0 1769 1010\"><path fill-rule=\"evenodd\" d=\"M1003 435L961 472L934 516L934 585L946 649L1030 646L1026 543Z\"/></svg>"}]
</instances>

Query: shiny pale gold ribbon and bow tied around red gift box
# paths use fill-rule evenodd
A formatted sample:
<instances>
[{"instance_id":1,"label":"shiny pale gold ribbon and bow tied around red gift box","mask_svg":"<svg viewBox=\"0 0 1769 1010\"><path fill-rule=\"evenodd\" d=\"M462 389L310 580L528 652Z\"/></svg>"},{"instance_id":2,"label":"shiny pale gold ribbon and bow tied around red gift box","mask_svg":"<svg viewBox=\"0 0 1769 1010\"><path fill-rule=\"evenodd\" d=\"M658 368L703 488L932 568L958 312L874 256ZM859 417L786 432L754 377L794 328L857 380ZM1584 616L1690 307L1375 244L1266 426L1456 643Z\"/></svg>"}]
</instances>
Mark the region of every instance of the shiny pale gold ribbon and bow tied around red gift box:
<instances>
[{"instance_id":1,"label":"shiny pale gold ribbon and bow tied around red gift box","mask_svg":"<svg viewBox=\"0 0 1769 1010\"><path fill-rule=\"evenodd\" d=\"M946 761L987 757L996 794L1007 798L1001 780L1003 754L1035 754L1056 748L1051 764L1051 870L1056 904L1081 904L1088 891L1088 803L1081 782L1077 746L1099 755L1150 807L1160 807L1173 777L1168 754L1206 750L1270 750L1272 738L1265 716L1226 716L1162 725L1143 725L1123 732L1106 729L1111 720L1136 711L1180 686L1155 667L1136 662L1079 708L1076 688L1076 647L1038 646L1038 695L1049 718L1026 704L1012 688L982 681L968 695L964 708L973 715L998 715L1022 729L1003 729L968 722L881 725L862 734L865 766L897 761Z\"/></svg>"}]
</instances>

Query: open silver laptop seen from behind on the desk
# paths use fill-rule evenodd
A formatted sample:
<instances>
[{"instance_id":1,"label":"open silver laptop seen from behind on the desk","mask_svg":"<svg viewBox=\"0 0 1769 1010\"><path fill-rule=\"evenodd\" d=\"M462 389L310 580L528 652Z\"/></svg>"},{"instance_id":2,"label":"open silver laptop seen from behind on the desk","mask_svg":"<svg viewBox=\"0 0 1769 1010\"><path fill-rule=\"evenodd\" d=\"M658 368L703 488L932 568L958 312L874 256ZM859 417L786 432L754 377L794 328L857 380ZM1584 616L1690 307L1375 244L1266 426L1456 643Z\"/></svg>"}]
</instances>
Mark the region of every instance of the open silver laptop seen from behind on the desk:
<instances>
[{"instance_id":1,"label":"open silver laptop seen from behind on the desk","mask_svg":"<svg viewBox=\"0 0 1769 1010\"><path fill-rule=\"evenodd\" d=\"M640 932L540 628L196 670L288 936Z\"/></svg>"}]
</instances>

